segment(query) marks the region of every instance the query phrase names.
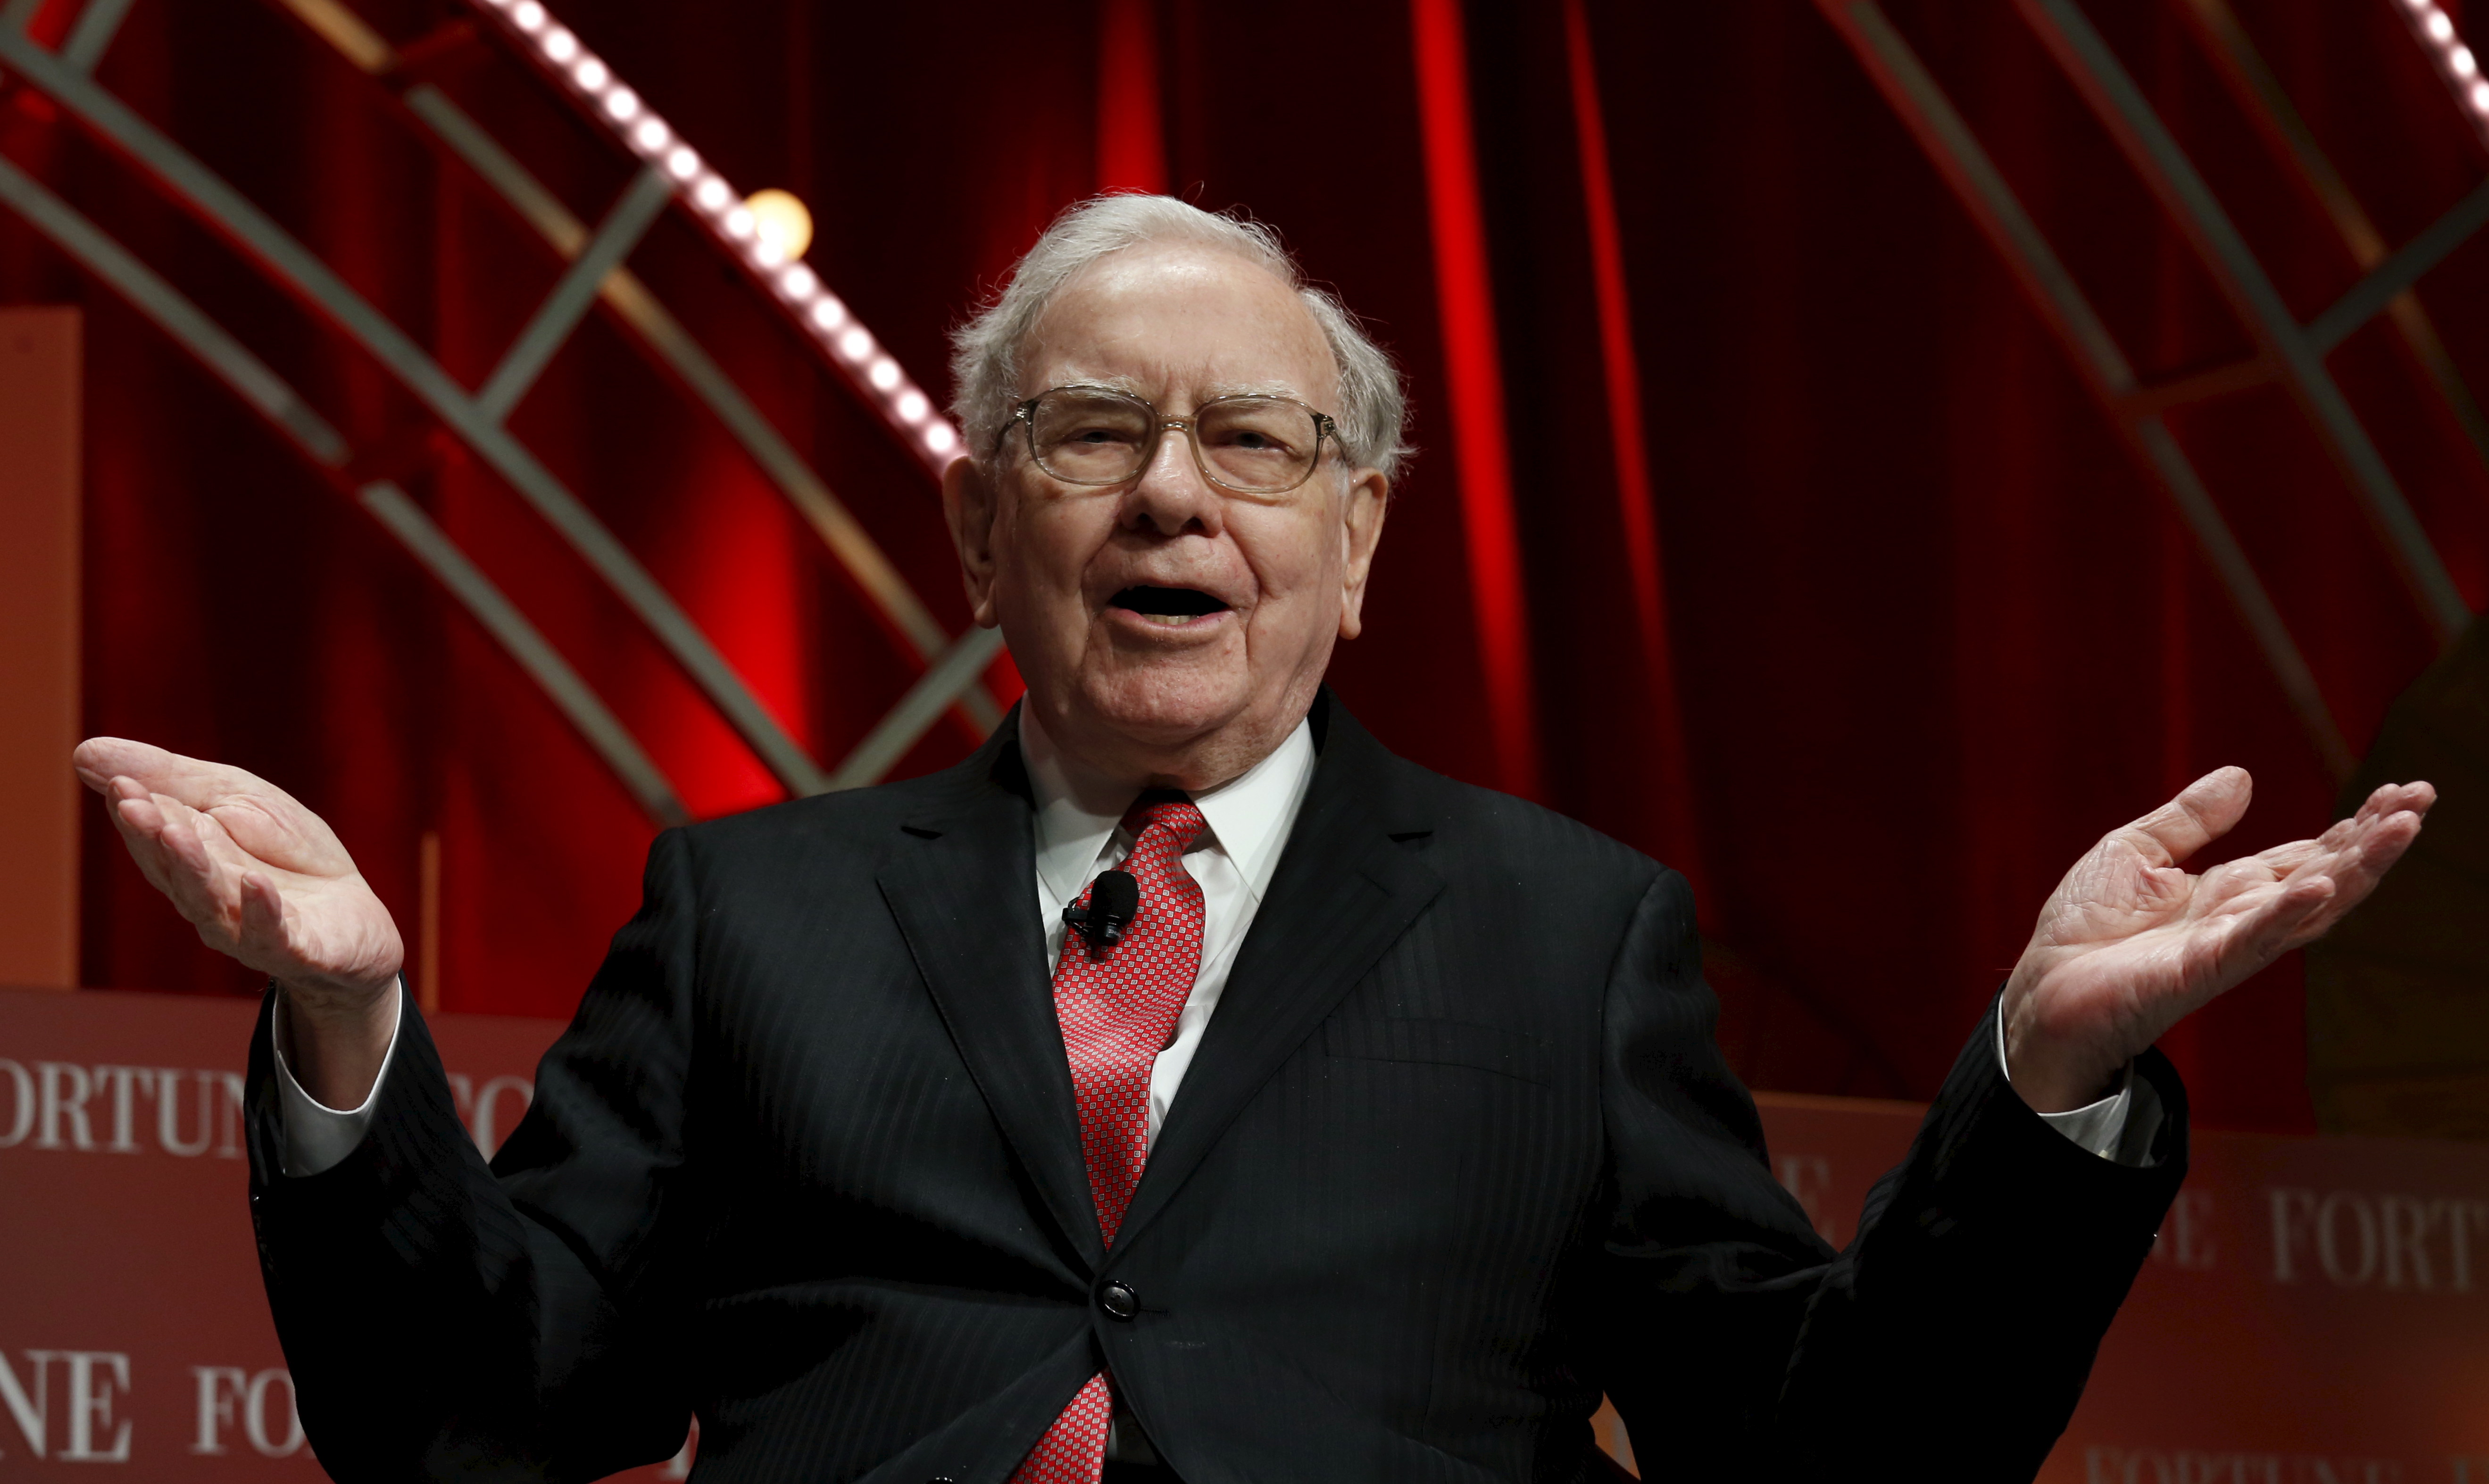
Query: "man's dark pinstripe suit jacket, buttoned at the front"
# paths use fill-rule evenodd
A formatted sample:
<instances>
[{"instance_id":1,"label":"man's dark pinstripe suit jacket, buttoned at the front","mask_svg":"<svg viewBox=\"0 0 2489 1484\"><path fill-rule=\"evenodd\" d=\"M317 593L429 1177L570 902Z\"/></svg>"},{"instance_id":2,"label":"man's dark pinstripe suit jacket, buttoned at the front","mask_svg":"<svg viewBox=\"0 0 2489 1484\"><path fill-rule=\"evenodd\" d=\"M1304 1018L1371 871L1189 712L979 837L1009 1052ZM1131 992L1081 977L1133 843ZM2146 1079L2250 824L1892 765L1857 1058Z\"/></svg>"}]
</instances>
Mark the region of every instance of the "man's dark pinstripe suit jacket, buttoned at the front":
<instances>
[{"instance_id":1,"label":"man's dark pinstripe suit jacket, buttoned at the front","mask_svg":"<svg viewBox=\"0 0 2489 1484\"><path fill-rule=\"evenodd\" d=\"M1571 819L1322 762L1123 1233L1098 1237L1016 730L667 832L493 1168L421 1021L251 1208L339 1479L1003 1482L1100 1364L1187 1484L2026 1479L2185 1165L2098 1160L1971 1033L1847 1252L1765 1163L1693 904ZM523 906L513 906L523 909ZM1095 1302L1125 1282L1130 1320Z\"/></svg>"}]
</instances>

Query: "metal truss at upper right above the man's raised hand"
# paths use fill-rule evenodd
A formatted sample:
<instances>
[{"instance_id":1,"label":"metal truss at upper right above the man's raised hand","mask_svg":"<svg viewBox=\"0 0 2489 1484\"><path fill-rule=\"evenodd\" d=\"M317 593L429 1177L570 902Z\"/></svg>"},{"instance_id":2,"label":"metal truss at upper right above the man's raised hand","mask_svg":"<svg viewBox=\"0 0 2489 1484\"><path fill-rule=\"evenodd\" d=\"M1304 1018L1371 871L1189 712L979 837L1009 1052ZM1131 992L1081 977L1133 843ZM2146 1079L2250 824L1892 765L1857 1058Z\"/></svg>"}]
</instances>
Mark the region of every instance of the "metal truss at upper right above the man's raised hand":
<instances>
[{"instance_id":1,"label":"metal truss at upper right above the man's raised hand","mask_svg":"<svg viewBox=\"0 0 2489 1484\"><path fill-rule=\"evenodd\" d=\"M2255 637L2255 645L2263 650L2265 665L2272 667L2307 740L2332 774L2342 779L2352 772L2352 749L2335 725L2317 677L2282 622L2263 578L2258 578L2245 548L2240 548L2220 508L2213 503L2193 461L2178 446L2178 438L2170 436L2168 413L2253 386L2277 383L2287 388L2327 456L2342 471L2352 498L2367 513L2419 615L2442 647L2452 645L2472 622L2472 610L2454 588L2437 548L2429 543L2429 533L2412 513L2409 500L2394 483L2360 416L2342 396L2340 383L2335 383L2325 359L2355 329L2377 314L2387 314L2449 416L2467 431L2482 461L2489 463L2489 423L2484 423L2479 403L2464 388L2462 376L2454 371L2444 344L2412 291L2422 274L2489 222L2489 182L2464 194L2444 217L2402 249L2387 251L2367 212L2362 212L2340 172L2317 149L2305 120L2248 42L2228 2L2170 2L2178 5L2195 42L2205 50L2240 110L2258 127L2267 149L2317 199L2367 276L2310 324L2300 324L2282 304L2280 291L2245 237L2230 222L2213 187L2178 147L2178 139L2153 112L2133 75L2126 72L2123 62L2118 62L2116 52L2111 52L2108 42L2076 2L2014 0L2021 20L2073 82L2083 105L2153 192L2160 209L2175 222L2230 304L2230 311L2255 341L2255 354L2245 361L2163 383L2146 383L2136 373L2073 274L2066 271L2056 249L2016 199L1986 149L1981 149L1979 137L1964 122L1961 112L1884 15L1884 7L1877 0L1817 0L1817 7L1857 52L1877 90L1902 115L1902 122L1919 139L1919 147L1926 149L1944 182L1969 209L1999 256L2004 256L2041 319L2063 341L2083 383L2128 451L2168 493L2228 590L2248 632ZM2434 0L2379 2L2404 15L2414 40L2429 50L2432 65L2447 80L2454 105L2467 115L2472 129L2489 142L2489 82L2482 80L2479 62L2454 35L2454 22Z\"/></svg>"}]
</instances>

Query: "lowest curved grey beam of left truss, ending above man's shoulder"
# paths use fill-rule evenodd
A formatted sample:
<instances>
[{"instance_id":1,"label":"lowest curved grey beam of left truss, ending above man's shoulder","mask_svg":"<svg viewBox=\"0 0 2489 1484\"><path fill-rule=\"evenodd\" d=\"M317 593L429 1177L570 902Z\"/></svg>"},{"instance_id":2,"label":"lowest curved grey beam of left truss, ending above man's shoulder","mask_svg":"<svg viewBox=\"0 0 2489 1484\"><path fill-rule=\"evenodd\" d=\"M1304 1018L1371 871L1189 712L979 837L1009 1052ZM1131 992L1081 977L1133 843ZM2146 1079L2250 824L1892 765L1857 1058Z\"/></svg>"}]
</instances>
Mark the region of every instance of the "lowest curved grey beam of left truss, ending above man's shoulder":
<instances>
[{"instance_id":1,"label":"lowest curved grey beam of left truss, ending above man's shoulder","mask_svg":"<svg viewBox=\"0 0 2489 1484\"><path fill-rule=\"evenodd\" d=\"M179 289L157 276L154 269L134 259L119 242L105 234L75 207L42 189L40 182L0 159L0 202L12 207L55 247L77 259L90 274L112 286L139 314L174 344L199 359L244 403L276 426L311 463L331 476L346 466L346 438L329 426L281 376L254 356L241 341L224 331ZM373 483L356 493L398 543L448 588L468 615L495 640L503 652L535 680L545 700L563 712L590 749L657 824L687 824L689 812L675 794L665 772L640 749L630 730L605 710L587 682L580 680L543 632L475 568L458 543L448 538L413 500L393 483Z\"/></svg>"}]
</instances>

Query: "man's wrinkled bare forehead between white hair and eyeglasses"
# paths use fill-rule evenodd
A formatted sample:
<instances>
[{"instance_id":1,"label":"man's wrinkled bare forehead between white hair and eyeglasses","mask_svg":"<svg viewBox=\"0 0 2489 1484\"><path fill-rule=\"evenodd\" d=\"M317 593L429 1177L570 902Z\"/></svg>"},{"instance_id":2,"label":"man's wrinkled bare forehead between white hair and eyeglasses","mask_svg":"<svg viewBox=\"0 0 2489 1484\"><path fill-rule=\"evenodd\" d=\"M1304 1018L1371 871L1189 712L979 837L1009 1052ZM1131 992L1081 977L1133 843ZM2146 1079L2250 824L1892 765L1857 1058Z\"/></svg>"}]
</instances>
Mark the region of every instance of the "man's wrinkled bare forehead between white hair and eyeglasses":
<instances>
[{"instance_id":1,"label":"man's wrinkled bare forehead between white hair and eyeglasses","mask_svg":"<svg viewBox=\"0 0 2489 1484\"><path fill-rule=\"evenodd\" d=\"M1055 291L1020 354L1020 396L1115 386L1160 411L1212 396L1292 396L1334 411L1339 364L1304 301L1232 251L1147 244Z\"/></svg>"}]
</instances>

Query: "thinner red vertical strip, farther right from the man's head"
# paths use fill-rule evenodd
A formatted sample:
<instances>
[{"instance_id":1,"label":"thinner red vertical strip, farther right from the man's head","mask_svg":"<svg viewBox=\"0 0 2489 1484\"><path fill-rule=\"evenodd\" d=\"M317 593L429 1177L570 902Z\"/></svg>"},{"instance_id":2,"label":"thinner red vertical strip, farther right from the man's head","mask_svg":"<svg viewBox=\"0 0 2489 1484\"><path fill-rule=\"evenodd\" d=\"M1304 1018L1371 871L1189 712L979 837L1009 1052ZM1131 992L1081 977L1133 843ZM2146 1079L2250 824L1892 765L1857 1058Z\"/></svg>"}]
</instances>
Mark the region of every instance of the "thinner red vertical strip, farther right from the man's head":
<instances>
[{"instance_id":1,"label":"thinner red vertical strip, farther right from the man's head","mask_svg":"<svg viewBox=\"0 0 2489 1484\"><path fill-rule=\"evenodd\" d=\"M1615 177L1608 169L1608 122L1598 107L1590 20L1583 0L1566 0L1566 57L1573 75L1573 132L1581 139L1581 199L1590 227L1590 289L1598 299L1598 354L1608 373L1608 436L1615 446L1615 510L1625 528L1633 615L1643 635L1643 667L1658 742L1660 854L1695 886L1710 911L1695 829L1693 777L1685 764L1685 712L1668 645L1668 588L1660 575L1660 525L1650 503L1650 448L1643 441L1643 366L1633 354L1633 304L1625 296L1625 247L1615 224Z\"/></svg>"}]
</instances>

